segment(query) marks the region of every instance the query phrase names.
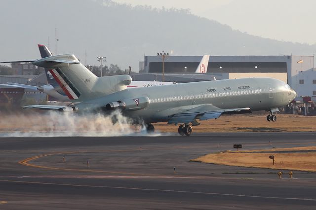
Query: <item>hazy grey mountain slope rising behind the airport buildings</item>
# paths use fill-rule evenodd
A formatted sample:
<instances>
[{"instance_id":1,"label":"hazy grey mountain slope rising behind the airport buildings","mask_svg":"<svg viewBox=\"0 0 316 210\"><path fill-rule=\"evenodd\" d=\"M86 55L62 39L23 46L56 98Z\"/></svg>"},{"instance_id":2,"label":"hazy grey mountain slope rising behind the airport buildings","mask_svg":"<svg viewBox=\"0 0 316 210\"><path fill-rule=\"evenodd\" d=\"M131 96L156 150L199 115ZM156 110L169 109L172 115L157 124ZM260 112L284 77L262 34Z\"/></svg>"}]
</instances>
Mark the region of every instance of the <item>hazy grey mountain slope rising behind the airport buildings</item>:
<instances>
[{"instance_id":1,"label":"hazy grey mountain slope rising behind the airport buildings","mask_svg":"<svg viewBox=\"0 0 316 210\"><path fill-rule=\"evenodd\" d=\"M173 55L313 55L316 45L277 41L248 35L187 10L131 7L110 0L10 0L1 3L0 60L39 58L38 43L58 53L75 53L82 63L108 64L122 69L144 54L173 51ZM281 26L280 26L281 27ZM269 30L269 29L267 29ZM12 50L14 49L14 50Z\"/></svg>"}]
</instances>

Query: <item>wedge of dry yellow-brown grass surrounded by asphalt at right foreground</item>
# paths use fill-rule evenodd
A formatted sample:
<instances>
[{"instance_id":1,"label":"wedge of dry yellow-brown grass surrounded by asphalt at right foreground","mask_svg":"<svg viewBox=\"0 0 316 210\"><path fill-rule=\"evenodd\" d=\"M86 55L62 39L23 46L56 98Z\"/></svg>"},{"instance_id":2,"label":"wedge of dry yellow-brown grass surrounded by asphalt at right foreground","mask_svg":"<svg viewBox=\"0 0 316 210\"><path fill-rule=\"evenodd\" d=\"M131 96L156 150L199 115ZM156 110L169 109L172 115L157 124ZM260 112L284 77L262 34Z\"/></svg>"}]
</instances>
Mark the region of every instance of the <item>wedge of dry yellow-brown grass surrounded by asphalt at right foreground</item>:
<instances>
[{"instance_id":1,"label":"wedge of dry yellow-brown grass surrounded by asphalt at right foreground","mask_svg":"<svg viewBox=\"0 0 316 210\"><path fill-rule=\"evenodd\" d=\"M310 152L309 150L314 150ZM258 153L259 151L266 151ZM277 153L276 151L283 151ZM287 151L287 152L286 152ZM296 152L293 152L296 151ZM300 151L300 152L298 152ZM316 146L272 150L223 151L198 157L192 161L228 166L255 167L316 172ZM269 158L275 156L275 165Z\"/></svg>"}]
</instances>

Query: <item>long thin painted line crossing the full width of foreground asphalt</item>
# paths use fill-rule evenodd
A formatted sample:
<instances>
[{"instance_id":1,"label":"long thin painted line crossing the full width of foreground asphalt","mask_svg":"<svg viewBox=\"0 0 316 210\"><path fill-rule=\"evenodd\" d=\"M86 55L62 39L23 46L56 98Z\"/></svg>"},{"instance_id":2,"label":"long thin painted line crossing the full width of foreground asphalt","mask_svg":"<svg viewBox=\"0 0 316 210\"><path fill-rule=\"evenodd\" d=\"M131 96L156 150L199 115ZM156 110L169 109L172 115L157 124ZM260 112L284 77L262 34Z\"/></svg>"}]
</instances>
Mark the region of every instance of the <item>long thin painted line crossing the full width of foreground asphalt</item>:
<instances>
[{"instance_id":1,"label":"long thin painted line crossing the full width of foreground asphalt","mask_svg":"<svg viewBox=\"0 0 316 210\"><path fill-rule=\"evenodd\" d=\"M270 197L270 196L255 196L255 195L242 195L242 194L229 194L229 193L212 193L212 192L198 192L198 191L186 191L186 190L148 189L148 188L138 188L138 187L117 187L117 186L80 185L80 184L61 184L61 183L35 182L35 181L14 181L14 180L0 180L0 181L27 183L27 184L72 186L72 187L110 188L110 189L141 190L141 191L152 191L152 192L189 193L189 194L203 194L203 195L221 195L221 196L233 196L233 197L278 199L278 200L300 200L300 201L315 201L316 202L316 198Z\"/></svg>"}]
</instances>

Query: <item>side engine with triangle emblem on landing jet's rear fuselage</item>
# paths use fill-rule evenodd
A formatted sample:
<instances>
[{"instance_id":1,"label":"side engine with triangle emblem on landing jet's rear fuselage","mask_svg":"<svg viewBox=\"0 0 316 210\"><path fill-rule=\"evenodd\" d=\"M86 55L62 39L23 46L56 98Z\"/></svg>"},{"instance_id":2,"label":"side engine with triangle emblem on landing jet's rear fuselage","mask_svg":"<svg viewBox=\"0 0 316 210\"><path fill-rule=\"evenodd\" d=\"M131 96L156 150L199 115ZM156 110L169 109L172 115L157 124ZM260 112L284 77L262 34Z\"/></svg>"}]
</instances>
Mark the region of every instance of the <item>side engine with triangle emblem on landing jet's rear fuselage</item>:
<instances>
[{"instance_id":1,"label":"side engine with triangle emblem on landing jet's rear fuselage","mask_svg":"<svg viewBox=\"0 0 316 210\"><path fill-rule=\"evenodd\" d=\"M117 108L124 109L126 111L134 111L148 107L150 101L149 98L139 97L137 99L125 99L122 101L111 102L107 104L105 107L107 110L114 110Z\"/></svg>"}]
</instances>

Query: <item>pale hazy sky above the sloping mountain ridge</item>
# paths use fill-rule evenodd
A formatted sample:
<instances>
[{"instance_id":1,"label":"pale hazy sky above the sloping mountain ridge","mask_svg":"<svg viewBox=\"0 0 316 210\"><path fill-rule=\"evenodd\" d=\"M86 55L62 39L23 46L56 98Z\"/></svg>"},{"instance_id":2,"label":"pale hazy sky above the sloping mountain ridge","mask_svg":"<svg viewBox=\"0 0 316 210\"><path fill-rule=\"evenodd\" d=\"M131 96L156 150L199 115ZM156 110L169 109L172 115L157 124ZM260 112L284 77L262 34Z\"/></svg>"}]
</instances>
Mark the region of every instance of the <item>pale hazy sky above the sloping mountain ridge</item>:
<instances>
[{"instance_id":1,"label":"pale hazy sky above the sloping mountain ridge","mask_svg":"<svg viewBox=\"0 0 316 210\"><path fill-rule=\"evenodd\" d=\"M132 6L190 8L195 15L265 38L316 43L316 0L114 0Z\"/></svg>"}]
</instances>

